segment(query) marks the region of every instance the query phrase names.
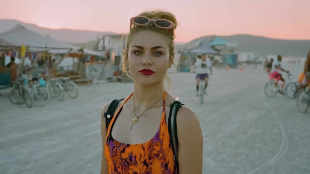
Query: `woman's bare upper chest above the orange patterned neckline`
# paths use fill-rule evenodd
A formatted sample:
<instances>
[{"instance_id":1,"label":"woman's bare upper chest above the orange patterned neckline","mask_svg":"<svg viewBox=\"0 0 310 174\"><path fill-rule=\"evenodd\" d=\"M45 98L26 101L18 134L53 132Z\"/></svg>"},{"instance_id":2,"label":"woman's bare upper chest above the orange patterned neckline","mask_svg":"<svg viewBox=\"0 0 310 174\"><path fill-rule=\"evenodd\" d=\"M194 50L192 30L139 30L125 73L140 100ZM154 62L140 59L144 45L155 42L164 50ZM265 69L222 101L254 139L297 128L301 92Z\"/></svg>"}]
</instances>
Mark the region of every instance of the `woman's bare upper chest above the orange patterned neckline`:
<instances>
[{"instance_id":1,"label":"woman's bare upper chest above the orange patterned neckline","mask_svg":"<svg viewBox=\"0 0 310 174\"><path fill-rule=\"evenodd\" d=\"M114 140L125 144L145 143L156 135L161 126L168 124L169 111L169 106L166 106L166 112L163 112L163 107L151 108L141 116L137 115L139 116L138 121L133 124L134 110L124 106L114 121L111 135ZM166 124L163 124L162 121Z\"/></svg>"}]
</instances>

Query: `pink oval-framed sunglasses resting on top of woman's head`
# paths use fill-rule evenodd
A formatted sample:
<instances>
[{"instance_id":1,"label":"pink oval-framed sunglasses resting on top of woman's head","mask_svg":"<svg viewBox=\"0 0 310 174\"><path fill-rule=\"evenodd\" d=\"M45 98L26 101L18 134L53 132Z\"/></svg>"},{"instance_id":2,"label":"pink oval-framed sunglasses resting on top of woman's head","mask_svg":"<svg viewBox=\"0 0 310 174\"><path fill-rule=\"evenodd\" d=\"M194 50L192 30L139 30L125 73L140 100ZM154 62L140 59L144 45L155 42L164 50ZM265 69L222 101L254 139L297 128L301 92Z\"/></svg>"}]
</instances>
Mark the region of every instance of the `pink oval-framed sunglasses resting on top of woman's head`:
<instances>
[{"instance_id":1,"label":"pink oval-framed sunglasses resting on top of woman's head","mask_svg":"<svg viewBox=\"0 0 310 174\"><path fill-rule=\"evenodd\" d=\"M138 26L143 26L149 24L151 21L158 27L164 29L171 29L174 27L174 23L170 20L166 19L150 19L145 16L135 16L130 19L131 24L135 24ZM131 27L132 28L132 27Z\"/></svg>"}]
</instances>

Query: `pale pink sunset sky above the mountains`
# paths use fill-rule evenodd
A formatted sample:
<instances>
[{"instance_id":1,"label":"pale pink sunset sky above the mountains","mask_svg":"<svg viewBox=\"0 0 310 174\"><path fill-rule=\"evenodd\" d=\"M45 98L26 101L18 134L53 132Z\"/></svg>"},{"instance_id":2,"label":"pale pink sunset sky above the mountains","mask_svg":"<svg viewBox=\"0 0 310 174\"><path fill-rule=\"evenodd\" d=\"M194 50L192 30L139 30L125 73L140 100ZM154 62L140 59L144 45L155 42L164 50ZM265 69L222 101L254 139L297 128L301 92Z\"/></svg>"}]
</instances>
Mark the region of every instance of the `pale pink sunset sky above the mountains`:
<instances>
[{"instance_id":1,"label":"pale pink sunset sky above the mountains","mask_svg":"<svg viewBox=\"0 0 310 174\"><path fill-rule=\"evenodd\" d=\"M252 34L310 39L310 0L2 0L0 18L46 28L127 33L145 10L172 12L176 41L205 35Z\"/></svg>"}]
</instances>

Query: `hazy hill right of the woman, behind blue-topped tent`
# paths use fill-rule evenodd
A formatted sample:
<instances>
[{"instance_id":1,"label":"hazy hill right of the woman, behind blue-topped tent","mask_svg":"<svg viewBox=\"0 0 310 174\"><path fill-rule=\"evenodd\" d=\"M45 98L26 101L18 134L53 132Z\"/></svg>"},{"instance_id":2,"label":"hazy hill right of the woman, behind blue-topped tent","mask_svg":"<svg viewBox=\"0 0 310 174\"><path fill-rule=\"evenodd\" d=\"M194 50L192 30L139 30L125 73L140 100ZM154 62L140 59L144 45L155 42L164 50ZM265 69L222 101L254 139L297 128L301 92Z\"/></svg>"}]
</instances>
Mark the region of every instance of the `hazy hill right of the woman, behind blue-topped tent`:
<instances>
[{"instance_id":1,"label":"hazy hill right of the woman, behind blue-topped tent","mask_svg":"<svg viewBox=\"0 0 310 174\"><path fill-rule=\"evenodd\" d=\"M210 39L212 36L204 36L194 39L186 44L184 47L194 47L197 43ZM283 40L270 39L267 37L252 36L246 34L238 34L233 36L219 36L228 42L237 43L237 51L242 52L256 52L261 56L269 54L280 54L282 56L307 57L310 50L310 40Z\"/></svg>"}]
</instances>

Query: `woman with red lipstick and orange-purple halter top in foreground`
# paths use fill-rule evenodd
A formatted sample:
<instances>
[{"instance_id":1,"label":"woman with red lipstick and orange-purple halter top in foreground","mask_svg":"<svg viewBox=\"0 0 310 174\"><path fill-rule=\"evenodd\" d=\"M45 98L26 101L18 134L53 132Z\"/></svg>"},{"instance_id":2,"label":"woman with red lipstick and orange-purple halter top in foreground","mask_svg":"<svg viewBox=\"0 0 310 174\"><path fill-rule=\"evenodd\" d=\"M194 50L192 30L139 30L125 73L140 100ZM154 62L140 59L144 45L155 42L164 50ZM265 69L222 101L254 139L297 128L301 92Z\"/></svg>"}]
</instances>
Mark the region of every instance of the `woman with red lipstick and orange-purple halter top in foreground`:
<instances>
[{"instance_id":1,"label":"woman with red lipstick and orange-purple halter top in foreground","mask_svg":"<svg viewBox=\"0 0 310 174\"><path fill-rule=\"evenodd\" d=\"M102 109L101 174L202 173L197 114L185 106L178 111L179 167L168 134L169 104L175 98L166 92L164 79L169 79L166 72L173 64L176 25L175 16L163 11L131 18L123 61L135 80L134 91L119 102L108 130L103 115L111 102Z\"/></svg>"}]
</instances>

